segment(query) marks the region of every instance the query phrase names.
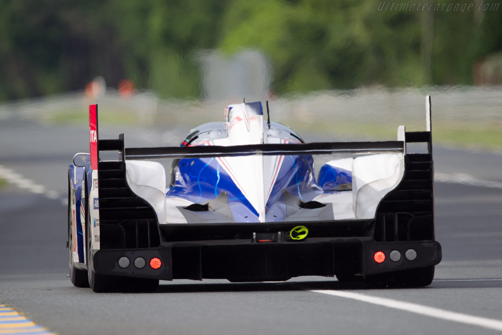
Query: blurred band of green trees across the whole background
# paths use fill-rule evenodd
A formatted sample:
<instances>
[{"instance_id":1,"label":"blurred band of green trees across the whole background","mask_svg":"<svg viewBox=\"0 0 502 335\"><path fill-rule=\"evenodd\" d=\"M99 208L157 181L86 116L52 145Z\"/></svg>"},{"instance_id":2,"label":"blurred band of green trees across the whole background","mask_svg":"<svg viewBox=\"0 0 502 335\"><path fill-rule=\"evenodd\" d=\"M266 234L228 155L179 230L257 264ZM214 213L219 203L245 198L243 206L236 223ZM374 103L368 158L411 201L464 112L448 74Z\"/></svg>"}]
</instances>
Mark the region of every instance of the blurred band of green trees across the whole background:
<instances>
[{"instance_id":1,"label":"blurred band of green trees across the whole background","mask_svg":"<svg viewBox=\"0 0 502 335\"><path fill-rule=\"evenodd\" d=\"M161 97L196 97L197 55L216 48L261 50L277 93L471 84L473 64L502 50L502 8L384 8L418 3L0 0L0 100L82 89L98 75L108 86L130 78Z\"/></svg>"}]
</instances>

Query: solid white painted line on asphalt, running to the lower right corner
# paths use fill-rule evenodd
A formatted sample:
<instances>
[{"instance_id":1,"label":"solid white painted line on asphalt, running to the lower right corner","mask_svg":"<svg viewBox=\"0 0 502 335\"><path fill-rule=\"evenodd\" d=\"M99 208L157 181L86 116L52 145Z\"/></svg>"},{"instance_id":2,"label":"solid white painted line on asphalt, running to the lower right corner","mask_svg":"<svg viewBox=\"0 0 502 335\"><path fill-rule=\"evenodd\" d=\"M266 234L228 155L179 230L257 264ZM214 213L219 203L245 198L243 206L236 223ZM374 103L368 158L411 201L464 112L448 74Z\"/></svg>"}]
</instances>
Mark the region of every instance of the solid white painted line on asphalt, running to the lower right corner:
<instances>
[{"instance_id":1,"label":"solid white painted line on asphalt, running to the lower right corner","mask_svg":"<svg viewBox=\"0 0 502 335\"><path fill-rule=\"evenodd\" d=\"M367 302L367 303L374 304L374 305L380 305L380 306L385 306L388 308L404 310L407 312L426 315L426 316L430 316L430 317L435 317L438 319L443 319L443 320L448 320L448 321L464 323L464 324L469 324L469 325L479 326L479 327L483 327L483 328L502 331L502 321L501 320L490 319L487 317L457 313L457 312L452 312L452 311L441 309L441 308L429 307L429 306L420 305L420 304L416 304L416 303L404 302L404 301L388 299L388 298L380 298L380 297L375 297L375 296L370 296L370 295L365 295L365 294L360 294L360 293L353 293L353 292L346 292L346 291L334 291L334 290L310 290L310 291L315 292L315 293L333 295L333 296L342 297L342 298L359 300L359 301Z\"/></svg>"}]
</instances>

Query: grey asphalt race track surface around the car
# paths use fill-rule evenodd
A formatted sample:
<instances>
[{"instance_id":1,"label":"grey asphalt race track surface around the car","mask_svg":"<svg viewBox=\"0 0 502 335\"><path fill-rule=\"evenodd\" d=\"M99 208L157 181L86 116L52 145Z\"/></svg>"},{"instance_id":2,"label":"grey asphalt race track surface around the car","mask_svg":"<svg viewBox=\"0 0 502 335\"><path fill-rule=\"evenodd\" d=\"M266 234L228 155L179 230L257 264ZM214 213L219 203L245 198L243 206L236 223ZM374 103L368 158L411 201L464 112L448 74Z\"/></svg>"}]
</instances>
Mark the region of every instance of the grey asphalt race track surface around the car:
<instances>
[{"instance_id":1,"label":"grey asphalt race track surface around the car","mask_svg":"<svg viewBox=\"0 0 502 335\"><path fill-rule=\"evenodd\" d=\"M168 141L184 133L150 136ZM117 134L110 127L100 136ZM96 294L66 278L61 201L66 166L75 152L87 151L87 136L85 127L0 124L0 176L11 181L0 189L0 303L39 325L61 335L502 332L500 155L435 148L443 180L435 184L443 261L429 287L375 290L304 277L282 283L177 280L161 282L156 293ZM126 139L128 146L149 141L138 131Z\"/></svg>"}]
</instances>

